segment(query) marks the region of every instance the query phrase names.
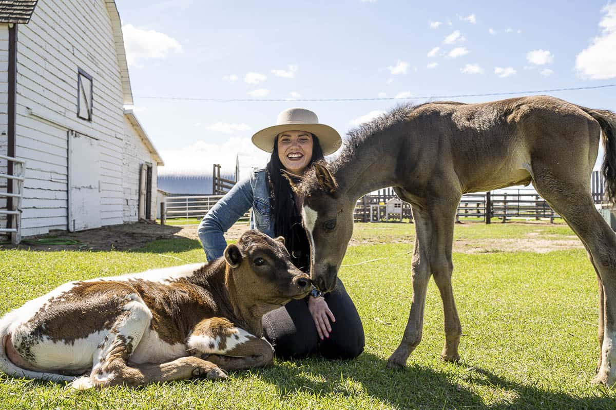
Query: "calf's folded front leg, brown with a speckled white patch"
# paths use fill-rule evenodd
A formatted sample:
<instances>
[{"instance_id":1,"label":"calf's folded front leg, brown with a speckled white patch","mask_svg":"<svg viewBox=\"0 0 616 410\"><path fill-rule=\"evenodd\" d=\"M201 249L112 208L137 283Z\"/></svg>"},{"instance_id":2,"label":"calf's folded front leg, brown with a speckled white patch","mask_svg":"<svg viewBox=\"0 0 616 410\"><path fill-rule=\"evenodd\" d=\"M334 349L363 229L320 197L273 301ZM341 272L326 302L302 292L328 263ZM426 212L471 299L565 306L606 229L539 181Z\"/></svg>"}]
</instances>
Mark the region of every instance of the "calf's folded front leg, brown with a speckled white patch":
<instances>
[{"instance_id":1,"label":"calf's folded front leg, brown with a speckled white patch","mask_svg":"<svg viewBox=\"0 0 616 410\"><path fill-rule=\"evenodd\" d=\"M271 365L274 349L269 342L233 325L226 318L209 318L193 328L188 350L227 371Z\"/></svg>"}]
</instances>

